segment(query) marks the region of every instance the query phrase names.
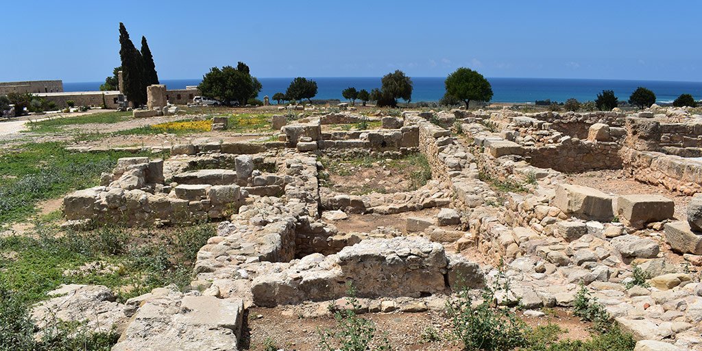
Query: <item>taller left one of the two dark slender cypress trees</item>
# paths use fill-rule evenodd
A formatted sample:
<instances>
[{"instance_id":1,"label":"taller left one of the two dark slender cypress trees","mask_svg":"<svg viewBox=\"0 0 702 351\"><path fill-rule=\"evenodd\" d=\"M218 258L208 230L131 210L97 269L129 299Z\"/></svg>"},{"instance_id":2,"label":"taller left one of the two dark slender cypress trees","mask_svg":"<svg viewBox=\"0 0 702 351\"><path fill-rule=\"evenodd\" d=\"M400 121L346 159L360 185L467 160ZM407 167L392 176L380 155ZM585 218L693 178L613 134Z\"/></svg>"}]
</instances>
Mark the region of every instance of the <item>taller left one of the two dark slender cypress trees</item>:
<instances>
[{"instance_id":1,"label":"taller left one of the two dark slender cypress trees","mask_svg":"<svg viewBox=\"0 0 702 351\"><path fill-rule=\"evenodd\" d=\"M135 105L146 103L146 88L144 84L144 62L142 55L134 47L129 33L123 23L119 23L119 58L122 62L122 75L124 78L124 93Z\"/></svg>"}]
</instances>

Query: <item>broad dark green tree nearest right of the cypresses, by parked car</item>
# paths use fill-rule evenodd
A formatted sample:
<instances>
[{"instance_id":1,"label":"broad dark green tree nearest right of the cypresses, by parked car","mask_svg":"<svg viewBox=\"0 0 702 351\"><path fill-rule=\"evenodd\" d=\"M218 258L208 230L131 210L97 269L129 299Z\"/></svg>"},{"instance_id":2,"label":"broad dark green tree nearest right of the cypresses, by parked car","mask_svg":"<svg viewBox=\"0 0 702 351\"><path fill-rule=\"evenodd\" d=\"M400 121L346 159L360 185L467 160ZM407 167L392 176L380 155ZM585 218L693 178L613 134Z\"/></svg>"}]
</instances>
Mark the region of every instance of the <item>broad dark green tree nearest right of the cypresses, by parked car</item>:
<instances>
[{"instance_id":1,"label":"broad dark green tree nearest right of the cypresses, by parked car","mask_svg":"<svg viewBox=\"0 0 702 351\"><path fill-rule=\"evenodd\" d=\"M249 99L258 96L262 86L258 79L251 77L249 67L239 62L237 68L212 67L210 72L202 77L197 88L202 95L223 100L225 103L237 100L240 105L246 105Z\"/></svg>"}]
</instances>

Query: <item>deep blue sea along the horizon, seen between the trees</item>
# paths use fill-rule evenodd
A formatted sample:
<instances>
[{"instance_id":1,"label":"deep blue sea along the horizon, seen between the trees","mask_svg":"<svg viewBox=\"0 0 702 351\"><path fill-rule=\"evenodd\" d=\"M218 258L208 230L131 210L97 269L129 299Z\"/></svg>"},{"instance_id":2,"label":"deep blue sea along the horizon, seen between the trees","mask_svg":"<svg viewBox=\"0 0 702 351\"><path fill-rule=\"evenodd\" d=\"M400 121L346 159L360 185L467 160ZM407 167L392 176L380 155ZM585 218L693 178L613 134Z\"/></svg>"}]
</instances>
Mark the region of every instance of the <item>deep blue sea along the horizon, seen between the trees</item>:
<instances>
[{"instance_id":1,"label":"deep blue sea along the horizon, seen between the trees","mask_svg":"<svg viewBox=\"0 0 702 351\"><path fill-rule=\"evenodd\" d=\"M320 77L317 81L316 99L344 100L341 91L350 86L358 90L380 88L379 77ZM444 77L412 77L412 101L437 101L445 93ZM263 85L259 98L274 93L284 93L292 78L259 78ZM656 93L658 102L673 102L678 95L688 93L696 100L702 99L702 82L692 81L631 81L611 79L541 79L541 78L488 78L494 96L492 102L534 102L546 100L564 102L569 98L579 101L595 100L602 90L613 90L619 100L628 100L629 95L639 86ZM163 79L170 89L197 86L200 79ZM102 82L64 83L65 91L95 91Z\"/></svg>"}]
</instances>

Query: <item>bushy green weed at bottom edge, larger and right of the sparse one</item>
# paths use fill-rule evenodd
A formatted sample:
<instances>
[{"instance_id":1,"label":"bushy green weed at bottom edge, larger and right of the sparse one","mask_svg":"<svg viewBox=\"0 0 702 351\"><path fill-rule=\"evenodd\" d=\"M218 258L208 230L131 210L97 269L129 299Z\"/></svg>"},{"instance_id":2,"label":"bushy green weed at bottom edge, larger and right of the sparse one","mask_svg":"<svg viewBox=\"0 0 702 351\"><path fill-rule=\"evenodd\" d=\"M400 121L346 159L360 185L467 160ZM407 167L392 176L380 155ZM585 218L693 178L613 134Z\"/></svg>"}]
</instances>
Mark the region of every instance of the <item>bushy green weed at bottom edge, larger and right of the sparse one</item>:
<instances>
[{"instance_id":1,"label":"bushy green weed at bottom edge, larger and right of the sparse one","mask_svg":"<svg viewBox=\"0 0 702 351\"><path fill-rule=\"evenodd\" d=\"M482 290L482 301L475 306L468 289L446 304L453 333L464 350L503 351L528 345L529 326L509 307L494 303L498 289L509 293L508 284L501 284L502 278L500 272L494 286Z\"/></svg>"}]
</instances>

